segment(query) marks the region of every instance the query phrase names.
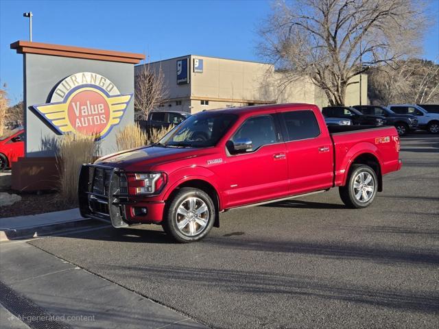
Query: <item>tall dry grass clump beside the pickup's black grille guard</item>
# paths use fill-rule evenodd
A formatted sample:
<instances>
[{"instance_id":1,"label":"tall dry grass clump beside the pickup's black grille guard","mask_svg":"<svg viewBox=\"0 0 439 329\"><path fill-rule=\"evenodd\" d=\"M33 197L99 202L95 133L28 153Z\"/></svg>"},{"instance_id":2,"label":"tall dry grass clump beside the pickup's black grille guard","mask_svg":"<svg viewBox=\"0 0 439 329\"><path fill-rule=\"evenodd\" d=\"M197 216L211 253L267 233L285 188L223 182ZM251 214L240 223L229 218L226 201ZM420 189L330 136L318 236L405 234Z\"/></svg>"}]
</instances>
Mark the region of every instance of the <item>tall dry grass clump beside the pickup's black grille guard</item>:
<instances>
[{"instance_id":1,"label":"tall dry grass clump beside the pickup's black grille guard","mask_svg":"<svg viewBox=\"0 0 439 329\"><path fill-rule=\"evenodd\" d=\"M90 163L99 154L95 136L66 134L58 141L56 155L60 195L67 204L78 204L78 180L83 163Z\"/></svg>"}]
</instances>

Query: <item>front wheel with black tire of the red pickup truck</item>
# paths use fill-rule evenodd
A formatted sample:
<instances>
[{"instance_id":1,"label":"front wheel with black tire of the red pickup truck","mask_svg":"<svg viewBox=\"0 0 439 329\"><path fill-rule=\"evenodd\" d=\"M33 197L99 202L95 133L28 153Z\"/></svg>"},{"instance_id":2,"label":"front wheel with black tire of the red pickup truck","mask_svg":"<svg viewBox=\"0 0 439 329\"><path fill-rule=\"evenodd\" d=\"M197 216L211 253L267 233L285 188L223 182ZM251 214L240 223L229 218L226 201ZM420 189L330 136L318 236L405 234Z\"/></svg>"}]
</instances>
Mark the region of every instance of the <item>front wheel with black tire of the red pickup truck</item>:
<instances>
[{"instance_id":1,"label":"front wheel with black tire of the red pickup truck","mask_svg":"<svg viewBox=\"0 0 439 329\"><path fill-rule=\"evenodd\" d=\"M180 243L200 241L215 222L211 197L198 188L184 187L169 200L163 230Z\"/></svg>"}]
</instances>

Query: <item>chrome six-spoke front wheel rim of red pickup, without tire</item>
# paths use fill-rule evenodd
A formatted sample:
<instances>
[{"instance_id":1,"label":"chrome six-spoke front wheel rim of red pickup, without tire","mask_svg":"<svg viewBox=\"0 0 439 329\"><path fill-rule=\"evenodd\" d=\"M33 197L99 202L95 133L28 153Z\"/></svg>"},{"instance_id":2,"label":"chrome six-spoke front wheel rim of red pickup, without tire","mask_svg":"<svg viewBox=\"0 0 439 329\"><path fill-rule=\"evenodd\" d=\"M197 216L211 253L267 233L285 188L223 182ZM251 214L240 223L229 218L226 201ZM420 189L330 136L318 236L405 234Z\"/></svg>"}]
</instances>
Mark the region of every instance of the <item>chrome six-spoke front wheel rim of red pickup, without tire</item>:
<instances>
[{"instance_id":1,"label":"chrome six-spoke front wheel rim of red pickup, without tire","mask_svg":"<svg viewBox=\"0 0 439 329\"><path fill-rule=\"evenodd\" d=\"M186 236L198 235L209 223L209 215L209 207L202 199L188 197L177 208L177 228Z\"/></svg>"}]
</instances>

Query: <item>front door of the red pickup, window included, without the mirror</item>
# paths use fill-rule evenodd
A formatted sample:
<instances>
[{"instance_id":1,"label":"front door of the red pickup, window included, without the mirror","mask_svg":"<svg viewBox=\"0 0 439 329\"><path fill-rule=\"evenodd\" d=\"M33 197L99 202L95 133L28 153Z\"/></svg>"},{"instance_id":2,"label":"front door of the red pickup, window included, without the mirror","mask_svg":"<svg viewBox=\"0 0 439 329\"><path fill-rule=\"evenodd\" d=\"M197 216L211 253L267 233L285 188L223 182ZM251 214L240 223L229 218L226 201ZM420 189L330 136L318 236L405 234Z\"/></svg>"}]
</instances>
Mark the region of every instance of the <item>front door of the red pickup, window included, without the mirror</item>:
<instances>
[{"instance_id":1,"label":"front door of the red pickup, window included, without the mirror","mask_svg":"<svg viewBox=\"0 0 439 329\"><path fill-rule=\"evenodd\" d=\"M259 114L242 123L231 141L248 138L252 151L228 154L224 167L225 208L277 199L288 193L285 144L272 114Z\"/></svg>"}]
</instances>

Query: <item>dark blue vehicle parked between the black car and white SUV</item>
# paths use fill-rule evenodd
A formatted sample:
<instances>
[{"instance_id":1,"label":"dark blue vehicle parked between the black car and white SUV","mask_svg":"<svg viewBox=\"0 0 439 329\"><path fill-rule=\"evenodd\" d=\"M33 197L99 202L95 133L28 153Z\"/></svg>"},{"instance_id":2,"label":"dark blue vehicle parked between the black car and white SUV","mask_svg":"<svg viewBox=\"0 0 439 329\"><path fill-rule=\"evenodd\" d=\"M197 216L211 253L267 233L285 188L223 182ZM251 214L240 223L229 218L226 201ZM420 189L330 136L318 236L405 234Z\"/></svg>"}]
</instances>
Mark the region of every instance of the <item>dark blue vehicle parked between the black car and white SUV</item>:
<instances>
[{"instance_id":1,"label":"dark blue vehicle parked between the black car and white SUV","mask_svg":"<svg viewBox=\"0 0 439 329\"><path fill-rule=\"evenodd\" d=\"M363 114L377 115L385 119L386 125L394 125L399 136L405 136L418 128L418 119L411 114L396 114L385 106L356 105L353 106Z\"/></svg>"}]
</instances>

